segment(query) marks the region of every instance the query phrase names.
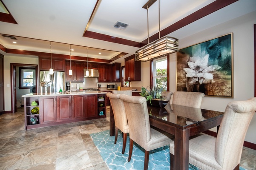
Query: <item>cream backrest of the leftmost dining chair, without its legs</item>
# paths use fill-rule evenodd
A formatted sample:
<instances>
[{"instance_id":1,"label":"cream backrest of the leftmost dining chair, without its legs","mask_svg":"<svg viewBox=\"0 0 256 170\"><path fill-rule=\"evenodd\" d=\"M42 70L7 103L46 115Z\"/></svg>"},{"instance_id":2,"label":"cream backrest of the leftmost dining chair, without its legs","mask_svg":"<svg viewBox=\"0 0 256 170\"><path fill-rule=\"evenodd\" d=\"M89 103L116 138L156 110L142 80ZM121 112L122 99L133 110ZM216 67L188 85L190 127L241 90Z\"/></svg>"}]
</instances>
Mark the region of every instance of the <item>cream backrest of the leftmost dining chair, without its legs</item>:
<instances>
[{"instance_id":1,"label":"cream backrest of the leftmost dining chair, without its legs","mask_svg":"<svg viewBox=\"0 0 256 170\"><path fill-rule=\"evenodd\" d=\"M113 115L115 119L115 126L118 127L122 132L129 133L129 129L125 128L128 126L127 116L124 110L124 104L120 99L121 94L107 93L106 96L109 98Z\"/></svg>"}]
</instances>

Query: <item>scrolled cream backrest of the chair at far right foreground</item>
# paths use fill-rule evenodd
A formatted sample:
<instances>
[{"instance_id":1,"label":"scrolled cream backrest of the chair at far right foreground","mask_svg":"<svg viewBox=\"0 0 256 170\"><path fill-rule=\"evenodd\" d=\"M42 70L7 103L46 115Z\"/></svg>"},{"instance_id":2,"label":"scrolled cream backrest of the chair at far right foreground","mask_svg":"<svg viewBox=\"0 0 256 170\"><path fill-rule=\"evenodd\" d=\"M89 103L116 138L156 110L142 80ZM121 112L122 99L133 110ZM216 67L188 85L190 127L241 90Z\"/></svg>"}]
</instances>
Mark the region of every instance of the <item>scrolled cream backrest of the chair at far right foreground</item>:
<instances>
[{"instance_id":1,"label":"scrolled cream backrest of the chair at far right foreground","mask_svg":"<svg viewBox=\"0 0 256 170\"><path fill-rule=\"evenodd\" d=\"M240 163L244 138L255 111L255 97L227 105L215 145L215 159L224 170Z\"/></svg>"}]
</instances>

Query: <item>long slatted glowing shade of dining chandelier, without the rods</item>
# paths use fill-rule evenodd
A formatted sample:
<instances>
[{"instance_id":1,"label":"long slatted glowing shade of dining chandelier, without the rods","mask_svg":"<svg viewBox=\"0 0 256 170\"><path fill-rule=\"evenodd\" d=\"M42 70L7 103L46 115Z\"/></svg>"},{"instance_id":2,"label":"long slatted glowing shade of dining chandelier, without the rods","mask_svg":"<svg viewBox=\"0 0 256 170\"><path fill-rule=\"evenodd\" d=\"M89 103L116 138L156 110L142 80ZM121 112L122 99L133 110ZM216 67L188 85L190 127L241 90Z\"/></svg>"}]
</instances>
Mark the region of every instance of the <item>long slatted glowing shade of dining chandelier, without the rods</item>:
<instances>
[{"instance_id":1,"label":"long slatted glowing shade of dining chandelier, without the rods","mask_svg":"<svg viewBox=\"0 0 256 170\"><path fill-rule=\"evenodd\" d=\"M155 57L175 53L178 51L178 39L162 37L135 52L136 61L149 61Z\"/></svg>"}]
</instances>

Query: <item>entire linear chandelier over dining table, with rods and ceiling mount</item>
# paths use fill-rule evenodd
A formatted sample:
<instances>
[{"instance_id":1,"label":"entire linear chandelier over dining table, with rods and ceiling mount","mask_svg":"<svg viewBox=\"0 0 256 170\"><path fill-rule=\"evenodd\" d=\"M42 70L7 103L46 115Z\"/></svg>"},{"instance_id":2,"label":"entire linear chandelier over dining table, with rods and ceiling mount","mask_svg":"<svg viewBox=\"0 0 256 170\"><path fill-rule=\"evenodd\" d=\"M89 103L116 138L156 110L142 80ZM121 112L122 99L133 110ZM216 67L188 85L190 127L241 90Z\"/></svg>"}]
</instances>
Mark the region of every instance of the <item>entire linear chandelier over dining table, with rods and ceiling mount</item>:
<instances>
[{"instance_id":1,"label":"entire linear chandelier over dining table, with rods and ceiling mount","mask_svg":"<svg viewBox=\"0 0 256 170\"><path fill-rule=\"evenodd\" d=\"M136 61L149 61L155 57L175 53L178 51L178 39L174 37L164 36L160 38L160 0L158 0L158 20L159 20L159 39L149 43L149 22L148 8L155 3L156 0L149 0L142 8L147 9L147 42L148 45L135 52Z\"/></svg>"}]
</instances>

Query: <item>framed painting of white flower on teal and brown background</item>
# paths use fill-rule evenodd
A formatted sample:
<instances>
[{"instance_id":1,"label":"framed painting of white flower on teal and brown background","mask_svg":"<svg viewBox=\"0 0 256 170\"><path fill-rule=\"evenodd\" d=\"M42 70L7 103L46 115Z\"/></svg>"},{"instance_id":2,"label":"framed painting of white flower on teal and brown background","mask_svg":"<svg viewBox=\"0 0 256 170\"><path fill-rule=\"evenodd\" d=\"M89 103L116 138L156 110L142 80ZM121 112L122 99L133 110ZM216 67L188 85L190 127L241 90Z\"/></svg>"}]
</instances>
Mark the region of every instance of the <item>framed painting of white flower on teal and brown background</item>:
<instances>
[{"instance_id":1,"label":"framed painting of white flower on teal and brown background","mask_svg":"<svg viewBox=\"0 0 256 170\"><path fill-rule=\"evenodd\" d=\"M177 52L177 91L233 98L233 33Z\"/></svg>"}]
</instances>

